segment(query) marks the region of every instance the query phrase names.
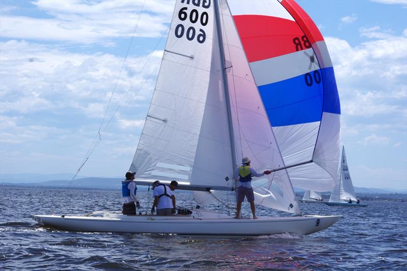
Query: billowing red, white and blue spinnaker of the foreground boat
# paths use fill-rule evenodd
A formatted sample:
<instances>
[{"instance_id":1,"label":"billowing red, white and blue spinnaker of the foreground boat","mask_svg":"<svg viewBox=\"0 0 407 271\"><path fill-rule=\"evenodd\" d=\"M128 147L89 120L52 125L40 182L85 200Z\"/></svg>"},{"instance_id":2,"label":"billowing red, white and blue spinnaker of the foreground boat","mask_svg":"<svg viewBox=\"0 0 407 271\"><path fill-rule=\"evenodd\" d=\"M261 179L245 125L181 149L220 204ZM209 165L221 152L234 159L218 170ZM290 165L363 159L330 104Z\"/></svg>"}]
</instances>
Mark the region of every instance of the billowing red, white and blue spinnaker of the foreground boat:
<instances>
[{"instance_id":1,"label":"billowing red, white and blue spinnaker of the foreground boat","mask_svg":"<svg viewBox=\"0 0 407 271\"><path fill-rule=\"evenodd\" d=\"M325 41L293 0L229 1L243 48L293 186L336 181L340 104Z\"/></svg>"}]
</instances>

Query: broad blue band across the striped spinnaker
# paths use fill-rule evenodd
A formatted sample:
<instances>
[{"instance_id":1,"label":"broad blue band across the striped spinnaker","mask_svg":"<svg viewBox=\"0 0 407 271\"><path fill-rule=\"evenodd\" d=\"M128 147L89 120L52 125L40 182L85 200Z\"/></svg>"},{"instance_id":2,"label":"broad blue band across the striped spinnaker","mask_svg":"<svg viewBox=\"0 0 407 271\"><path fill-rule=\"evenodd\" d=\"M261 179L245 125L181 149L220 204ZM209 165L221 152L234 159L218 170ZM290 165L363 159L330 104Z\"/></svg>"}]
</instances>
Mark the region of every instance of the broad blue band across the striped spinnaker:
<instances>
[{"instance_id":1,"label":"broad blue band across the striped spinnaker","mask_svg":"<svg viewBox=\"0 0 407 271\"><path fill-rule=\"evenodd\" d=\"M323 94L325 96L324 111L340 114L333 68L324 68L317 72L320 72L323 78L323 80L319 80L319 77L316 76L319 84L315 81L314 72L310 72L307 75L310 86L307 86L306 75L303 74L258 87L273 127L321 121ZM312 85L310 77L312 77Z\"/></svg>"}]
</instances>

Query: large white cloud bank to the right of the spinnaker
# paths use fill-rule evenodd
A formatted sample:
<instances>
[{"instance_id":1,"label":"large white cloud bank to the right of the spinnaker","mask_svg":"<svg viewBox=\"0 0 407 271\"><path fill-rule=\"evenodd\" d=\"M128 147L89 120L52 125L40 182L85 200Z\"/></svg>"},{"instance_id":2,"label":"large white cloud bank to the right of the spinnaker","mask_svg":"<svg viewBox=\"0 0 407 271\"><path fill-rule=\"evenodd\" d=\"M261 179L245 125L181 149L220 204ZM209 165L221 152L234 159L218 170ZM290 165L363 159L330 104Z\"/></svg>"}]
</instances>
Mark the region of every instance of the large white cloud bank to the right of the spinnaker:
<instances>
[{"instance_id":1,"label":"large white cloud bank to the right of the spinnaker","mask_svg":"<svg viewBox=\"0 0 407 271\"><path fill-rule=\"evenodd\" d=\"M407 99L407 38L384 33L379 26L361 29L376 33L357 46L326 37L335 69L344 116L398 116L405 119Z\"/></svg>"}]
</instances>

